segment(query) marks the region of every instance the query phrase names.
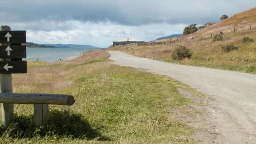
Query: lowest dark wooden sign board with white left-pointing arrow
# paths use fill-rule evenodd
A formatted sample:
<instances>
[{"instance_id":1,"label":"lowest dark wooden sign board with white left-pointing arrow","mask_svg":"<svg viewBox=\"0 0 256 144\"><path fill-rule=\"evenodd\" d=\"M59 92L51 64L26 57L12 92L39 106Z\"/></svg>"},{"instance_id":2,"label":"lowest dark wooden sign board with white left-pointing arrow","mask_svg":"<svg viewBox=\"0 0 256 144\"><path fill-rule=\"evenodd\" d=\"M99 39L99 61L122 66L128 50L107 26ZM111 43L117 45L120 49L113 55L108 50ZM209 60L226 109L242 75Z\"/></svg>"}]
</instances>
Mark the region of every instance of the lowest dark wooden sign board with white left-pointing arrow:
<instances>
[{"instance_id":1,"label":"lowest dark wooden sign board with white left-pointing arrow","mask_svg":"<svg viewBox=\"0 0 256 144\"><path fill-rule=\"evenodd\" d=\"M0 61L0 74L27 73L27 61Z\"/></svg>"}]
</instances>

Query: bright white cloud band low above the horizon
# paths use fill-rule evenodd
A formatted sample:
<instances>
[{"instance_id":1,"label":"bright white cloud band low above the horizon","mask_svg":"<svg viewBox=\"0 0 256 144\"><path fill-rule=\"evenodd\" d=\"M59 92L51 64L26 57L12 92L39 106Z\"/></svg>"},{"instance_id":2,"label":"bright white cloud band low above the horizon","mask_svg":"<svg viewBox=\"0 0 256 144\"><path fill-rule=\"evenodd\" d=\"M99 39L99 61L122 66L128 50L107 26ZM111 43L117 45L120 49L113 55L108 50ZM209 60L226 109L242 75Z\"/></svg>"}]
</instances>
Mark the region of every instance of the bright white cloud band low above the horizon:
<instances>
[{"instance_id":1,"label":"bright white cloud band low above the horizon","mask_svg":"<svg viewBox=\"0 0 256 144\"><path fill-rule=\"evenodd\" d=\"M49 21L44 23L51 27L56 22ZM69 29L28 30L27 41L34 43L76 43L107 47L112 45L112 41L129 36L143 41L150 41L174 33L179 34L187 26L186 24L166 23L141 26L123 26L112 22L65 21L64 23L69 24ZM13 25L19 27L19 24ZM21 29L26 29L26 27L21 26Z\"/></svg>"}]
</instances>

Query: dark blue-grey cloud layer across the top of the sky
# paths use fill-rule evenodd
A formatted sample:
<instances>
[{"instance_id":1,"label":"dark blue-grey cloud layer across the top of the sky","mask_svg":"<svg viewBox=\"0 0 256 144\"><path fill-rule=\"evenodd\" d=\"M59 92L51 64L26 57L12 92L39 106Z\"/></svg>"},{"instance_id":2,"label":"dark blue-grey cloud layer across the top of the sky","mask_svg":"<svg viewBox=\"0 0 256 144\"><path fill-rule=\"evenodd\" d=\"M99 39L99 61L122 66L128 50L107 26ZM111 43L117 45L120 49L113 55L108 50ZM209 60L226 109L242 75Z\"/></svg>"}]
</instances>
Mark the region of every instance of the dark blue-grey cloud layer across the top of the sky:
<instances>
[{"instance_id":1,"label":"dark blue-grey cloud layer across the top of the sky","mask_svg":"<svg viewBox=\"0 0 256 144\"><path fill-rule=\"evenodd\" d=\"M256 6L255 0L1 0L0 21L112 21L203 24ZM47 26L41 26L41 28Z\"/></svg>"}]
</instances>

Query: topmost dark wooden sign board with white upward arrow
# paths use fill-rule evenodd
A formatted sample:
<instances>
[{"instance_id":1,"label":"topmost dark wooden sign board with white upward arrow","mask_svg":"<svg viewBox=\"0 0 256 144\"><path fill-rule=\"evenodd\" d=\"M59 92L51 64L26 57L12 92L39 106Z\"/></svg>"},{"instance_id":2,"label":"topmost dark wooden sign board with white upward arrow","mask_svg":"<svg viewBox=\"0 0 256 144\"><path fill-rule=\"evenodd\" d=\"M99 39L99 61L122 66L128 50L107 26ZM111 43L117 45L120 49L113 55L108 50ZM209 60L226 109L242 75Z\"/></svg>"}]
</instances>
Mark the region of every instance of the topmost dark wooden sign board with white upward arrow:
<instances>
[{"instance_id":1,"label":"topmost dark wooden sign board with white upward arrow","mask_svg":"<svg viewBox=\"0 0 256 144\"><path fill-rule=\"evenodd\" d=\"M0 31L0 43L26 43L26 31Z\"/></svg>"}]
</instances>

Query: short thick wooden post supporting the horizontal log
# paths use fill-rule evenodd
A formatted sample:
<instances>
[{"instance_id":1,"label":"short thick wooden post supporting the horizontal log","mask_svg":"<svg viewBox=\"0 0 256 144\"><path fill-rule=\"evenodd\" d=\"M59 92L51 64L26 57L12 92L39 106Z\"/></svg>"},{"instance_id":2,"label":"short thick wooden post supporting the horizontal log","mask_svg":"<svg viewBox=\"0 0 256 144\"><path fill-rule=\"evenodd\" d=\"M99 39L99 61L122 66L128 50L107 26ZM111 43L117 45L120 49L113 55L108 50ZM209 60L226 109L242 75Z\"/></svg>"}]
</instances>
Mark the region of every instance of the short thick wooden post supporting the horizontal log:
<instances>
[{"instance_id":1,"label":"short thick wooden post supporting the horizontal log","mask_svg":"<svg viewBox=\"0 0 256 144\"><path fill-rule=\"evenodd\" d=\"M48 104L34 104L34 123L36 127L47 128L49 119Z\"/></svg>"}]
</instances>

